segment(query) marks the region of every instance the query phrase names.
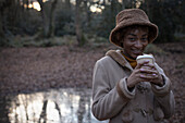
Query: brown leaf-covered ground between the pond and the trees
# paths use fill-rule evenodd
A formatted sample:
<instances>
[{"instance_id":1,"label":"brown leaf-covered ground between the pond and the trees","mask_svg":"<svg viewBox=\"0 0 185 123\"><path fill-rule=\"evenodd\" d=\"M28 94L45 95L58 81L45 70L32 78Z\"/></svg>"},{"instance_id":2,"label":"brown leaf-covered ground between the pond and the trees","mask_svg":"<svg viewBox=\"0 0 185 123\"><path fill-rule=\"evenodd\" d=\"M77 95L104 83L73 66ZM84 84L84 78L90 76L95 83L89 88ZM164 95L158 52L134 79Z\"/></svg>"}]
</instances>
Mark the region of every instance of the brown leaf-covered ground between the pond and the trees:
<instances>
[{"instance_id":1,"label":"brown leaf-covered ground between the pond and the trees","mask_svg":"<svg viewBox=\"0 0 185 123\"><path fill-rule=\"evenodd\" d=\"M169 120L185 122L185 44L158 44L157 63L172 81L176 109ZM0 95L60 87L91 88L95 62L115 47L61 46L48 48L0 48Z\"/></svg>"}]
</instances>

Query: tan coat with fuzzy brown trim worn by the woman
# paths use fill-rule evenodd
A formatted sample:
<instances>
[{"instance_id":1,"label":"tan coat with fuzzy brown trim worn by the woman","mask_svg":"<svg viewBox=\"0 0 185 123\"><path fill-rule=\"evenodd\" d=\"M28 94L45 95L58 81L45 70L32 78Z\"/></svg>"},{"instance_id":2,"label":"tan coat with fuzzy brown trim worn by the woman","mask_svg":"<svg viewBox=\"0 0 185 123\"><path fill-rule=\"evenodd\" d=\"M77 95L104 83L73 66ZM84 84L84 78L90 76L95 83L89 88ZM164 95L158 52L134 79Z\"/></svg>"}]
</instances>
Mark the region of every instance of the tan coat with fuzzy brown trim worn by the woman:
<instances>
[{"instance_id":1,"label":"tan coat with fuzzy brown trim worn by the woman","mask_svg":"<svg viewBox=\"0 0 185 123\"><path fill-rule=\"evenodd\" d=\"M141 82L130 91L126 78L133 69L121 51L111 50L98 60L92 77L94 115L110 123L161 123L170 118L175 106L171 82L162 69L155 65L163 76L164 86Z\"/></svg>"}]
</instances>

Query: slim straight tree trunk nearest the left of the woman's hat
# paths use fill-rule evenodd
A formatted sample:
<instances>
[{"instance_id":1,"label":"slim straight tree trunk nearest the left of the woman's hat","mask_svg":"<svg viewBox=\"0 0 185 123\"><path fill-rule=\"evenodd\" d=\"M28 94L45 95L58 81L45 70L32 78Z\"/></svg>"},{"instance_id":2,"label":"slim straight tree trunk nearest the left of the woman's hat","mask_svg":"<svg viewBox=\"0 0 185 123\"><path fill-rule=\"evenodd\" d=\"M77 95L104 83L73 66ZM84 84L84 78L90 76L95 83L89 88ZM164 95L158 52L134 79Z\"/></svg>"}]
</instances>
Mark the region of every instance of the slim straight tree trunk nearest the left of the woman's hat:
<instances>
[{"instance_id":1,"label":"slim straight tree trunk nearest the left of the woman's hat","mask_svg":"<svg viewBox=\"0 0 185 123\"><path fill-rule=\"evenodd\" d=\"M83 46L85 40L83 40L83 32L82 32L82 20L81 20L81 5L82 0L76 0L76 15L75 15L75 26L76 26L76 39L78 46Z\"/></svg>"}]
</instances>

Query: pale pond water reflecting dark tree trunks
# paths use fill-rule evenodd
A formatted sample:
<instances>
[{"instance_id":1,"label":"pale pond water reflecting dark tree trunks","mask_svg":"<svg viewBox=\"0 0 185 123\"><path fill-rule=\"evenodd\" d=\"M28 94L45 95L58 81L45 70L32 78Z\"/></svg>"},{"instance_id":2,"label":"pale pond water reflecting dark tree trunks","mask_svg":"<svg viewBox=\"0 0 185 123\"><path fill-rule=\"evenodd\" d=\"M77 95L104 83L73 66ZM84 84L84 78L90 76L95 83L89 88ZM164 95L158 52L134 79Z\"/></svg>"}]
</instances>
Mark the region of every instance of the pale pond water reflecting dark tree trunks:
<instances>
[{"instance_id":1,"label":"pale pond water reflecting dark tree trunks","mask_svg":"<svg viewBox=\"0 0 185 123\"><path fill-rule=\"evenodd\" d=\"M62 88L0 98L1 123L108 123L91 114L91 89Z\"/></svg>"}]
</instances>

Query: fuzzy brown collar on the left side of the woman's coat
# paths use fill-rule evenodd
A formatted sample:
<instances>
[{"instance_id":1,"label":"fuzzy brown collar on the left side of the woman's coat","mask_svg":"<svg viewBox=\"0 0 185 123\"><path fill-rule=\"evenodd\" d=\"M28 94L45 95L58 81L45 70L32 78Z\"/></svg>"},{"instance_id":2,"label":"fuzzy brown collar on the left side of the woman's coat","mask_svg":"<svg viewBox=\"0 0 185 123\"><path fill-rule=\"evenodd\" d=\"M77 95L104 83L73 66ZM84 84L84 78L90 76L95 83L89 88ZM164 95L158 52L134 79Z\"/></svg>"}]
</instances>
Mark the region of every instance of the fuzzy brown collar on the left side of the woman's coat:
<instances>
[{"instance_id":1,"label":"fuzzy brown collar on the left side of the woman's coat","mask_svg":"<svg viewBox=\"0 0 185 123\"><path fill-rule=\"evenodd\" d=\"M109 50L106 56L111 57L114 61L116 61L120 65L128 67L133 71L131 64L126 61L126 59L122 56L121 50Z\"/></svg>"}]
</instances>

